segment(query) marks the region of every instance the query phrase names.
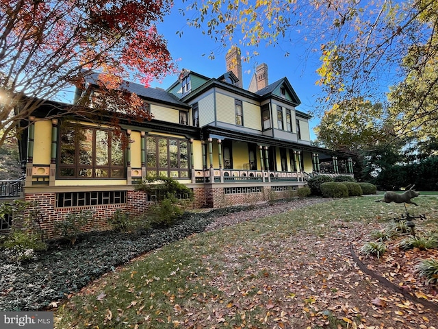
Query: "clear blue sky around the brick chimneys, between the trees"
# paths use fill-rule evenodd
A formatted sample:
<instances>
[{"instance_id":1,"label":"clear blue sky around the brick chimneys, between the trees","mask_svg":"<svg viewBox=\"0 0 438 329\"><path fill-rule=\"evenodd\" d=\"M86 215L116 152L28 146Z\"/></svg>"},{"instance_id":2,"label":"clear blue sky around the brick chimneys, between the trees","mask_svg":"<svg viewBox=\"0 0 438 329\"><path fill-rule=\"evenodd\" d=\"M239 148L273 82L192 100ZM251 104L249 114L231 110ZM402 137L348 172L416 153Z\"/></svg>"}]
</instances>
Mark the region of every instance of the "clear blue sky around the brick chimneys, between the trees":
<instances>
[{"instance_id":1,"label":"clear blue sky around the brick chimneys, between the trees","mask_svg":"<svg viewBox=\"0 0 438 329\"><path fill-rule=\"evenodd\" d=\"M181 5L176 4L172 8L170 16L166 16L164 23L158 25L158 32L168 40L168 49L172 57L177 60L179 69L189 69L207 77L219 77L226 71L227 49L222 49L209 36L203 35L200 29L186 26L187 18L178 12L180 7ZM181 29L183 35L180 37L176 32ZM240 48L242 53L248 50L244 47ZM215 53L214 60L208 58L211 51ZM319 86L315 86L315 81L319 78L315 72L320 64L318 52L309 53L309 49L304 45L293 45L288 41L277 47L261 46L257 51L259 56L251 59L250 62L242 63L244 88L248 88L255 66L264 62L268 64L269 82L287 77L301 100L297 110L311 114L315 110L315 102L321 91ZM284 56L285 52L289 52L288 57ZM161 84L153 82L151 86L167 88L175 80L177 75L166 77ZM315 139L312 130L318 121L316 116L311 120L312 140Z\"/></svg>"}]
</instances>

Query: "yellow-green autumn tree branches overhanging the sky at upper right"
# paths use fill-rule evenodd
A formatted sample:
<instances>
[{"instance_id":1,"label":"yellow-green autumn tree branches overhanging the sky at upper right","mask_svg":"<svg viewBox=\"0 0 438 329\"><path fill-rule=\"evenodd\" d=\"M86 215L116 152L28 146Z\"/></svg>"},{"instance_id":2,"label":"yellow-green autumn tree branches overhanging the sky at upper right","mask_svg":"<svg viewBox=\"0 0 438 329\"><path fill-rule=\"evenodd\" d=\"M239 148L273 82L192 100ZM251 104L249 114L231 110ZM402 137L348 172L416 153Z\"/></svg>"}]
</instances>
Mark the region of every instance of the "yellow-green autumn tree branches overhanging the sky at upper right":
<instances>
[{"instance_id":1,"label":"yellow-green autumn tree branches overhanging the sky at upper right","mask_svg":"<svg viewBox=\"0 0 438 329\"><path fill-rule=\"evenodd\" d=\"M246 56L283 42L320 51L320 113L362 98L383 104L388 115L380 119L391 119L390 134L437 135L437 1L183 2L181 11L195 12L190 25L223 47L250 49ZM357 107L348 110L353 116Z\"/></svg>"}]
</instances>

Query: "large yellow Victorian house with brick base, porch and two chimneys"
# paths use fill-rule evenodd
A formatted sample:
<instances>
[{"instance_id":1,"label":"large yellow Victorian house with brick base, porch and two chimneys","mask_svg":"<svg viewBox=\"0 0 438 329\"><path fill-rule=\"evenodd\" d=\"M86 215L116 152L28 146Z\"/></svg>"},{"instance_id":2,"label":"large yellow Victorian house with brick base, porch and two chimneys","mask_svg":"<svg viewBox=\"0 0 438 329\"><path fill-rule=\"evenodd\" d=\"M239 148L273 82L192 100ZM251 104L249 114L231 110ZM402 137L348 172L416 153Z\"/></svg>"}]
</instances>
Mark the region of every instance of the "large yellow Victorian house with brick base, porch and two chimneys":
<instances>
[{"instance_id":1,"label":"large yellow Victorian house with brick base, porch and two chimneys","mask_svg":"<svg viewBox=\"0 0 438 329\"><path fill-rule=\"evenodd\" d=\"M268 66L261 64L245 90L240 51L226 61L220 77L183 70L167 90L127 84L153 119L120 121L129 137L125 147L110 124L47 119L45 108L38 110L21 151L25 199L38 202L46 229L81 209L91 210L102 228L116 209L140 215L154 202L136 191L146 175L192 188L194 208L285 197L326 167L331 175L352 175L351 158L311 145L311 117L296 110L300 99L287 77L268 83ZM97 76L87 78L88 88L96 88Z\"/></svg>"}]
</instances>

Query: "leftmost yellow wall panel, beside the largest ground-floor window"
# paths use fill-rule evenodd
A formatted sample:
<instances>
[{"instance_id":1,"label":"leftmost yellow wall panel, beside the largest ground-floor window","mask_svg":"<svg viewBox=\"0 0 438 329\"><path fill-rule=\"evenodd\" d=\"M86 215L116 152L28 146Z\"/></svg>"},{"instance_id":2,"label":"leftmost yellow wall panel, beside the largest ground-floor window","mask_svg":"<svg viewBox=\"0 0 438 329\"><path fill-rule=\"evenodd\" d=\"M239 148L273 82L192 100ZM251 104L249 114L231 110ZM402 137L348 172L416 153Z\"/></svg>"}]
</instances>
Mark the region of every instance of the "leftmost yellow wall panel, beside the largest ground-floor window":
<instances>
[{"instance_id":1,"label":"leftmost yellow wall panel, beside the largest ground-floor window","mask_svg":"<svg viewBox=\"0 0 438 329\"><path fill-rule=\"evenodd\" d=\"M35 122L34 164L50 164L52 144L52 122Z\"/></svg>"}]
</instances>

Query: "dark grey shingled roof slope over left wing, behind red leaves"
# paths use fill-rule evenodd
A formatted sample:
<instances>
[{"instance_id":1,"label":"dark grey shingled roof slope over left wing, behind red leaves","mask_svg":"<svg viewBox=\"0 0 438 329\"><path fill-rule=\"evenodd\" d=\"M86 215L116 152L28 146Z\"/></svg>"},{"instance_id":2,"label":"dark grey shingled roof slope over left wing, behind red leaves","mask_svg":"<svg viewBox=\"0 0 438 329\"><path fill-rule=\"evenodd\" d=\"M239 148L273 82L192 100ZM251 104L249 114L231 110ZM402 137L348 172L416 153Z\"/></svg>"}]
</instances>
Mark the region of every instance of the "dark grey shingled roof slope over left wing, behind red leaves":
<instances>
[{"instance_id":1,"label":"dark grey shingled roof slope over left wing, behind red leaves","mask_svg":"<svg viewBox=\"0 0 438 329\"><path fill-rule=\"evenodd\" d=\"M86 75L85 80L89 84L97 85L99 73L90 73ZM139 97L145 100L157 101L157 103L166 103L168 105L178 106L180 108L190 108L188 104L183 103L175 95L168 93L161 88L146 88L142 84L136 84L135 82L123 81L120 88L127 90L129 93L135 93Z\"/></svg>"}]
</instances>

